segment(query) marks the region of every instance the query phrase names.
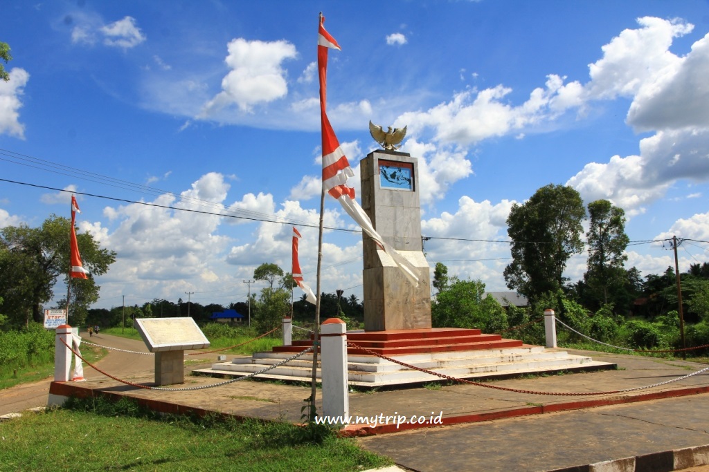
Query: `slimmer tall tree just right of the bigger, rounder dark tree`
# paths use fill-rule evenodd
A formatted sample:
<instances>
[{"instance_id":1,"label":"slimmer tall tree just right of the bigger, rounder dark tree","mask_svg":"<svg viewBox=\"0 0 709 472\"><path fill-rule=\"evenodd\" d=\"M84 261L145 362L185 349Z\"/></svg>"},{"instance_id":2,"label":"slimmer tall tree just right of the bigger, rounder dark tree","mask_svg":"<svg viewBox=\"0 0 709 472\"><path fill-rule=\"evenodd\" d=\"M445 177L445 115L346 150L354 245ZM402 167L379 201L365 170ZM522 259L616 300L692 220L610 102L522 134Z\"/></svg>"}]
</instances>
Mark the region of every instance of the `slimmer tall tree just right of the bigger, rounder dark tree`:
<instances>
[{"instance_id":1,"label":"slimmer tall tree just right of the bigger, rounder dark tree","mask_svg":"<svg viewBox=\"0 0 709 472\"><path fill-rule=\"evenodd\" d=\"M586 233L588 241L588 270L584 280L591 297L596 301L593 308L599 309L608 303L609 289L623 287L627 260L625 248L630 238L625 234L625 212L614 207L608 200L596 200L588 204L591 225Z\"/></svg>"}]
</instances>

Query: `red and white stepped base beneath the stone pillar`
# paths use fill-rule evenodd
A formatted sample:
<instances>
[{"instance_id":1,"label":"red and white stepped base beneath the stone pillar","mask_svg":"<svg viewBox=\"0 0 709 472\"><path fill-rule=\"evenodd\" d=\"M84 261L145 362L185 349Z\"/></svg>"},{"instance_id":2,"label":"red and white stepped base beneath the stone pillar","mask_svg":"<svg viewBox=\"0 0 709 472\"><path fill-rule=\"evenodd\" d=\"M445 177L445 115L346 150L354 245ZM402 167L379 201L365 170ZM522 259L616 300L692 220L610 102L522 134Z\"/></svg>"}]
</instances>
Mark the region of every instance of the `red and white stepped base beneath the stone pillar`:
<instances>
[{"instance_id":1,"label":"red and white stepped base beneath the stone pillar","mask_svg":"<svg viewBox=\"0 0 709 472\"><path fill-rule=\"evenodd\" d=\"M615 369L615 364L598 362L591 357L571 355L562 350L525 345L520 340L483 334L477 329L428 328L420 330L348 331L347 340L360 347L406 364L459 379L487 379L521 374L579 372ZM195 372L213 375L246 376L277 364L294 352L312 345L294 341L293 346L277 346L269 352L255 352L251 357L237 357L232 362L212 364L210 369ZM309 381L313 355L304 355L283 366L260 374L263 379ZM320 362L316 376L320 378ZM382 359L356 347L347 348L347 376L350 384L363 387L397 386L445 381Z\"/></svg>"}]
</instances>

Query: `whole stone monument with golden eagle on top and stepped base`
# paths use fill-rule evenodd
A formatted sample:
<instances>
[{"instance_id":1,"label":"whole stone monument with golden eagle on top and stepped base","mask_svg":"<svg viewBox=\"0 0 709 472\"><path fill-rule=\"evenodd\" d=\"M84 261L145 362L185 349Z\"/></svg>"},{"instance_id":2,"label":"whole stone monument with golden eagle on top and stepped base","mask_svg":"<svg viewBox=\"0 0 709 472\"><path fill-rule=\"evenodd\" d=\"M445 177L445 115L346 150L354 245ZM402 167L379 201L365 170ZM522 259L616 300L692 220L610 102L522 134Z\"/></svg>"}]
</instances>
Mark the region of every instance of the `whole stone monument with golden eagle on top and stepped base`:
<instances>
[{"instance_id":1,"label":"whole stone monument with golden eagle on top and stepped base","mask_svg":"<svg viewBox=\"0 0 709 472\"><path fill-rule=\"evenodd\" d=\"M406 136L406 127L389 127L384 131L370 121L369 132L383 149L372 151L360 161L362 209L381 236L383 245L393 248L406 260L404 265L415 273L418 283L405 275L379 243L363 234L364 330L346 333L347 342L352 343L346 347L345 372L350 384L375 387L440 380L440 377L402 367L379 356L396 356L403 362L458 378L614 366L590 357L547 351L541 346L525 345L521 340L482 333L478 328L432 328L430 268L421 238L418 159L398 152L396 145ZM399 263L404 263L395 257ZM335 325L330 328L332 326ZM344 333L323 333L323 336L340 334ZM287 345L274 346L270 352L255 352L252 357L237 357L232 362L212 364L210 369L197 372L245 376L312 345L311 339L293 340ZM345 349L344 345L342 348ZM262 376L301 381L312 379L312 369L312 357L296 359ZM317 369L316 375L320 372L321 369Z\"/></svg>"}]
</instances>

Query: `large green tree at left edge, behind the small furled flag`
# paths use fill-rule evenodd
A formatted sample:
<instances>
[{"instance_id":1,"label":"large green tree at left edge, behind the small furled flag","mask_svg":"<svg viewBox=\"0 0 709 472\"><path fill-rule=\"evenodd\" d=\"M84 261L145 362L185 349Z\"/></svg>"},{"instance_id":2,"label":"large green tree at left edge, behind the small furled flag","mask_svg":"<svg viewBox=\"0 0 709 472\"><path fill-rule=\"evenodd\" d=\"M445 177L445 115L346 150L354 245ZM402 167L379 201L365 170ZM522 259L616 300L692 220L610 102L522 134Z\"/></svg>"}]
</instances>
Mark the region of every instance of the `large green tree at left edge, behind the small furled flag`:
<instances>
[{"instance_id":1,"label":"large green tree at left edge, behind the small furled flag","mask_svg":"<svg viewBox=\"0 0 709 472\"><path fill-rule=\"evenodd\" d=\"M69 219L52 214L39 228L22 224L0 229L0 293L13 325L24 323L28 311L34 321L42 323L43 304L54 296L57 280L63 277L67 282L70 224ZM81 326L86 310L99 296L94 277L108 271L116 253L101 248L90 233L77 234L77 242L89 278L72 280L72 309L77 319L70 312L69 322Z\"/></svg>"}]
</instances>

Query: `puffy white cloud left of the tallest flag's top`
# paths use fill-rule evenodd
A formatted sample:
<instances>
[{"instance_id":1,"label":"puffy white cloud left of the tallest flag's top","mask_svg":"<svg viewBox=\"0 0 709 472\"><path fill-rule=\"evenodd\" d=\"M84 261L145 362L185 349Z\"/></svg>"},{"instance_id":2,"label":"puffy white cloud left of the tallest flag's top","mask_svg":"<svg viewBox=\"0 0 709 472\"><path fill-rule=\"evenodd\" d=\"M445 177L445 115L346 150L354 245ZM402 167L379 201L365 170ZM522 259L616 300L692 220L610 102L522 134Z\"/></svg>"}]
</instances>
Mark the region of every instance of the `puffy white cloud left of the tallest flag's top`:
<instances>
[{"instance_id":1,"label":"puffy white cloud left of the tallest flag's top","mask_svg":"<svg viewBox=\"0 0 709 472\"><path fill-rule=\"evenodd\" d=\"M294 59L296 48L290 42L248 41L238 38L229 42L225 59L230 67L222 79L222 91L205 106L205 115L211 115L228 105L238 105L249 111L257 103L269 103L288 93L286 71L281 63Z\"/></svg>"}]
</instances>

